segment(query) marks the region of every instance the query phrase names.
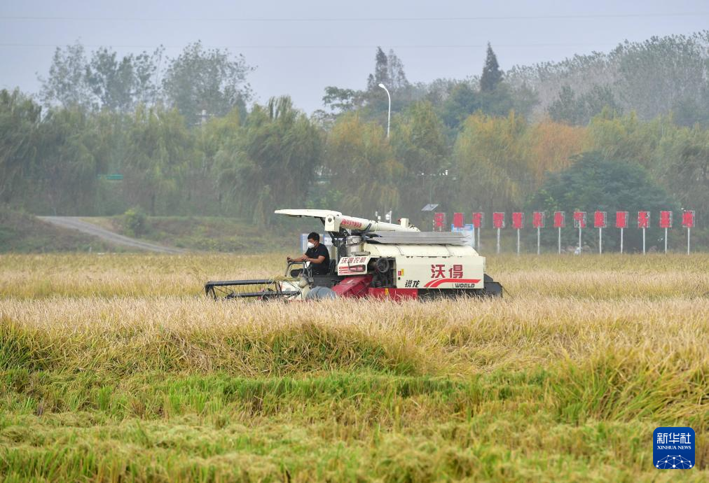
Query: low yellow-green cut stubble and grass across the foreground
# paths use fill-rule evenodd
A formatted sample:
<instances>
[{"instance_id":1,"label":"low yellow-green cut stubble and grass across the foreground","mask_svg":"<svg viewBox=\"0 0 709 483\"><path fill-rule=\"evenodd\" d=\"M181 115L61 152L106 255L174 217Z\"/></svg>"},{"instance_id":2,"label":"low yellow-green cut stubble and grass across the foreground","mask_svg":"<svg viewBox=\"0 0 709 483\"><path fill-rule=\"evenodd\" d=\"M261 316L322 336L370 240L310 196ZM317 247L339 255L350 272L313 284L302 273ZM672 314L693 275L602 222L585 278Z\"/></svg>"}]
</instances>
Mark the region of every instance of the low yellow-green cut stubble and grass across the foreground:
<instances>
[{"instance_id":1,"label":"low yellow-green cut stubble and grass across the foreground","mask_svg":"<svg viewBox=\"0 0 709 483\"><path fill-rule=\"evenodd\" d=\"M613 384L606 371L591 372ZM21 382L0 393L0 473L50 481L663 481L649 443L656 421L679 423L676 414L658 407L623 421L603 412L569 421L572 401L557 390L569 373L559 365L466 378L153 372L116 380L6 371L6 382ZM694 421L698 454L709 450L706 423ZM687 476L700 481L702 471Z\"/></svg>"}]
</instances>

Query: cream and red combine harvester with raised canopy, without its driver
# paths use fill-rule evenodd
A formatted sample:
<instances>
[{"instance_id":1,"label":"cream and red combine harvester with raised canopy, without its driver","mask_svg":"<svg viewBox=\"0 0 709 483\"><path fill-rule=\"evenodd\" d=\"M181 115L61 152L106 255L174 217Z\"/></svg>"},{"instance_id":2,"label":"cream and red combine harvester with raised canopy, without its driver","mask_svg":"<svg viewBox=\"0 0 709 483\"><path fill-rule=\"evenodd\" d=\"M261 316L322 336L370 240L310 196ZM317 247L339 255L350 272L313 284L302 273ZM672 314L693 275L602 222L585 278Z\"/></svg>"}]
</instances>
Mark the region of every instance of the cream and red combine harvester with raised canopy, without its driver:
<instances>
[{"instance_id":1,"label":"cream and red combine harvester with raised canopy, without its driver","mask_svg":"<svg viewBox=\"0 0 709 483\"><path fill-rule=\"evenodd\" d=\"M401 225L330 210L276 210L278 215L318 218L333 240L327 275L291 261L282 278L207 282L208 297L315 300L337 297L430 299L459 295L502 296L485 273L485 257L458 232L421 232ZM297 266L297 268L294 268ZM242 291L244 290L244 291Z\"/></svg>"}]
</instances>

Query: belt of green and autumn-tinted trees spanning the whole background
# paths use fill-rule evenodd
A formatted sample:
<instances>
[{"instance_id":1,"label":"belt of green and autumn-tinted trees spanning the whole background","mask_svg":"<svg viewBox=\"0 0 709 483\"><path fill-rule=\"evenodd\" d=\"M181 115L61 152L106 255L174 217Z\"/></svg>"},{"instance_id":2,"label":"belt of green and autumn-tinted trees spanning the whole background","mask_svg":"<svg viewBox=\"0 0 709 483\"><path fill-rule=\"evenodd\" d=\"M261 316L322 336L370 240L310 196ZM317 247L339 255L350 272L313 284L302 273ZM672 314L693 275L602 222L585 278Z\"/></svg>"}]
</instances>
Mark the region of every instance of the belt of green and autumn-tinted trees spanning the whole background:
<instances>
[{"instance_id":1,"label":"belt of green and autumn-tinted trees spanning the whole background","mask_svg":"<svg viewBox=\"0 0 709 483\"><path fill-rule=\"evenodd\" d=\"M684 45L677 68L693 72L696 55L709 58L702 42L698 34L625 44L612 57ZM605 57L593 58L547 66L544 76L602 70ZM621 64L620 72L635 65ZM542 74L504 73L491 46L480 76L431 84L412 84L401 59L378 49L366 89L330 86L325 110L308 117L287 97L247 110L248 71L242 57L199 42L174 59L161 50L121 59L106 49L86 55L80 45L57 50L44 108L19 91L0 93L0 199L42 213L111 215L140 205L152 214L259 223L283 206L410 216L426 203L513 210L538 196L551 174L595 152L647 173L647 191L664 189L708 212L707 126L678 123L673 110L644 119L616 102L620 84L579 94L557 83L557 98L536 119ZM682 98L701 99L693 76L660 72L681 84ZM380 83L392 93L391 137Z\"/></svg>"}]
</instances>

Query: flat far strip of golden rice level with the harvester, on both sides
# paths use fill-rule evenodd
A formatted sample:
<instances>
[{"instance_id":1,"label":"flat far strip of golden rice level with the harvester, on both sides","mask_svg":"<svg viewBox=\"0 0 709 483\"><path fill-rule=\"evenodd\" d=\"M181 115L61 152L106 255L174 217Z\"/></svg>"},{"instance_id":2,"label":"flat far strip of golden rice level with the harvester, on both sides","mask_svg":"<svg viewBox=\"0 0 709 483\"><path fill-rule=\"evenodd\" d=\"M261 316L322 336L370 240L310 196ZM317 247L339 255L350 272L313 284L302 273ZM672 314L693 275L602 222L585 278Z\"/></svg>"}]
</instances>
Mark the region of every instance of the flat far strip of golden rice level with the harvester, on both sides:
<instances>
[{"instance_id":1,"label":"flat far strip of golden rice level with the harvester, on both sides","mask_svg":"<svg viewBox=\"0 0 709 483\"><path fill-rule=\"evenodd\" d=\"M200 295L207 280L283 275L277 255L3 255L0 296ZM510 295L706 297L709 256L493 256L488 272Z\"/></svg>"}]
</instances>

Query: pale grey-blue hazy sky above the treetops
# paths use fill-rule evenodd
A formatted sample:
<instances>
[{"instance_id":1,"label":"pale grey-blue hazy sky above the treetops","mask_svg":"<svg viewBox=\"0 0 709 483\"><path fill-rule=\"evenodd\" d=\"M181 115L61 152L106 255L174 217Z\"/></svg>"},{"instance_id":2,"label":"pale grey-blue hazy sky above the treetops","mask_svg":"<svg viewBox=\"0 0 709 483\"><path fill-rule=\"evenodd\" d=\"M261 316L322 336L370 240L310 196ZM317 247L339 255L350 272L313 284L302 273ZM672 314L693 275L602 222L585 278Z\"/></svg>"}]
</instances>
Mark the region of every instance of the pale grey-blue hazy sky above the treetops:
<instances>
[{"instance_id":1,"label":"pale grey-blue hazy sky above the treetops","mask_svg":"<svg viewBox=\"0 0 709 483\"><path fill-rule=\"evenodd\" d=\"M488 41L508 69L707 28L708 0L1 0L0 89L38 91L55 47L76 40L120 53L162 44L170 57L202 40L256 67L257 101L290 94L311 112L325 86L364 88L377 45L393 48L415 82L479 74Z\"/></svg>"}]
</instances>

